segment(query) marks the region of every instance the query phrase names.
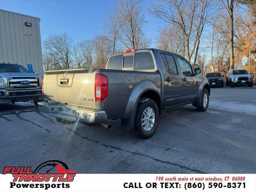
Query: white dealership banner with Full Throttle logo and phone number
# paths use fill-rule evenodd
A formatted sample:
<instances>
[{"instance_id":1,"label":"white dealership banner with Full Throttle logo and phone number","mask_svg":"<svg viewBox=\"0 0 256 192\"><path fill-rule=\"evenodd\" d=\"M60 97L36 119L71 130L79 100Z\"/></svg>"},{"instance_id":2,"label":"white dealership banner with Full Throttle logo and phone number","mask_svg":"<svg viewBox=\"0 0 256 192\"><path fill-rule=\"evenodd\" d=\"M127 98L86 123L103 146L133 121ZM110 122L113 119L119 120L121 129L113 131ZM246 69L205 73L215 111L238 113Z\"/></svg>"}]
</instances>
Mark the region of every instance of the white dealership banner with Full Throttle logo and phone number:
<instances>
[{"instance_id":1,"label":"white dealership banner with Full Throttle logo and phone number","mask_svg":"<svg viewBox=\"0 0 256 192\"><path fill-rule=\"evenodd\" d=\"M256 191L256 174L76 174L76 170L58 168L61 174L35 174L24 167L13 172L5 167L0 192Z\"/></svg>"}]
</instances>

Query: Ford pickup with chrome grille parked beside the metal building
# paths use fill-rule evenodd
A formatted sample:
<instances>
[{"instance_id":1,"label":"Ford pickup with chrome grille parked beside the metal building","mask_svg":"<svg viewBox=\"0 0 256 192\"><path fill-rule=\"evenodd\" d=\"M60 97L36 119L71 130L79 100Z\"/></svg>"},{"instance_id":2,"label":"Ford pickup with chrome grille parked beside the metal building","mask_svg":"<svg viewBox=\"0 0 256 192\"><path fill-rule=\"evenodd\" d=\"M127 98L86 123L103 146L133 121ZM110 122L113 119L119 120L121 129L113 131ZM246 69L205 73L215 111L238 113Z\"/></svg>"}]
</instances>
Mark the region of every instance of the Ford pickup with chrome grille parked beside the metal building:
<instances>
[{"instance_id":1,"label":"Ford pickup with chrome grille parked beside the metal building","mask_svg":"<svg viewBox=\"0 0 256 192\"><path fill-rule=\"evenodd\" d=\"M43 100L41 76L21 65L0 63L0 104Z\"/></svg>"}]
</instances>

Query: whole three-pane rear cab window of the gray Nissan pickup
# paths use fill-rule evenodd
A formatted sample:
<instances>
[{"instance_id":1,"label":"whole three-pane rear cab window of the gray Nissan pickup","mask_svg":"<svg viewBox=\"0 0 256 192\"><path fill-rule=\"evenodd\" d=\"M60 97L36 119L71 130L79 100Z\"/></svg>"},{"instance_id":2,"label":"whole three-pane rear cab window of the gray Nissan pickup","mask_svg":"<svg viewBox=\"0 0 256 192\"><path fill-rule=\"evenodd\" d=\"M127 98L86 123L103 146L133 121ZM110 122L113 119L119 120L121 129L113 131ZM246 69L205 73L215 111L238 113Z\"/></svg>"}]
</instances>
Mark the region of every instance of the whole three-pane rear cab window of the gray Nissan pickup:
<instances>
[{"instance_id":1,"label":"whole three-pane rear cab window of the gray Nissan pickup","mask_svg":"<svg viewBox=\"0 0 256 192\"><path fill-rule=\"evenodd\" d=\"M116 70L154 70L154 61L150 52L134 52L111 56L107 69Z\"/></svg>"}]
</instances>

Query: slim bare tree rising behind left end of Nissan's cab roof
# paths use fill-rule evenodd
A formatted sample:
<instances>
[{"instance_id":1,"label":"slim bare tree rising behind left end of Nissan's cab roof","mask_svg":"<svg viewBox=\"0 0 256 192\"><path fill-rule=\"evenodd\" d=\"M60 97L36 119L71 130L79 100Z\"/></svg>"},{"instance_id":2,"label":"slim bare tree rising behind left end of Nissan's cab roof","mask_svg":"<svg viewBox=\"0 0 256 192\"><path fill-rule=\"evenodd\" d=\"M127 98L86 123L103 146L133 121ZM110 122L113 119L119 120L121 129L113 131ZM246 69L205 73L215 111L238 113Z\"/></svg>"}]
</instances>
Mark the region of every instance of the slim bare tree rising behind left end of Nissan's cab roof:
<instances>
[{"instance_id":1,"label":"slim bare tree rising behind left end of Nissan's cab roof","mask_svg":"<svg viewBox=\"0 0 256 192\"><path fill-rule=\"evenodd\" d=\"M108 41L111 44L111 54L116 52L117 40L120 30L120 22L118 22L118 16L115 11L108 12L108 18L104 24L104 30L107 33Z\"/></svg>"}]
</instances>

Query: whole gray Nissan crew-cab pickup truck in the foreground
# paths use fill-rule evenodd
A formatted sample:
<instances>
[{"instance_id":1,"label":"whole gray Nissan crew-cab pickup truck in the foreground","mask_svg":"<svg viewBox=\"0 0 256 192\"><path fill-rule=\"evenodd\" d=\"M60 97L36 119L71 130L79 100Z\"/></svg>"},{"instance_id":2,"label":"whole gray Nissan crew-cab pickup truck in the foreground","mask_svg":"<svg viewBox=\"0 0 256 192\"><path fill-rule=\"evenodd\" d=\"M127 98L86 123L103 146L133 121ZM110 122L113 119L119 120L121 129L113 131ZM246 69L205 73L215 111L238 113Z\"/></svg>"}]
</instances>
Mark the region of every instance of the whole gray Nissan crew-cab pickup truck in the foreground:
<instances>
[{"instance_id":1,"label":"whole gray Nissan crew-cab pickup truck in the foreground","mask_svg":"<svg viewBox=\"0 0 256 192\"><path fill-rule=\"evenodd\" d=\"M162 110L192 104L206 111L210 86L182 56L142 49L110 56L106 69L46 71L43 92L38 108L58 122L121 119L145 139L156 132Z\"/></svg>"}]
</instances>

